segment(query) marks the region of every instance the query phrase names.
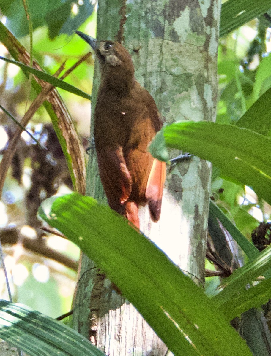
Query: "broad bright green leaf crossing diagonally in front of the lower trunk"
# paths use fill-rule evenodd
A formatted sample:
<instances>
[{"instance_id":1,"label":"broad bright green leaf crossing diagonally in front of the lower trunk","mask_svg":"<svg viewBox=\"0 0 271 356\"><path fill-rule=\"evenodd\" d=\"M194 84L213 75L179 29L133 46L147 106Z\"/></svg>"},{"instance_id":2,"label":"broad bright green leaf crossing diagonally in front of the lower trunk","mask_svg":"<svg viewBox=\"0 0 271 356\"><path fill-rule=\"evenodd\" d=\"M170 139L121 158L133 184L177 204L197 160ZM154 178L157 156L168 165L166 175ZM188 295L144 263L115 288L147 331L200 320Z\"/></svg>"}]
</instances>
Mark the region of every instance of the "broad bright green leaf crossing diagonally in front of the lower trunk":
<instances>
[{"instance_id":1,"label":"broad bright green leaf crossing diagonally in front of the lower trunk","mask_svg":"<svg viewBox=\"0 0 271 356\"><path fill-rule=\"evenodd\" d=\"M73 193L39 215L105 271L175 356L251 355L203 290L108 206Z\"/></svg>"}]
</instances>

